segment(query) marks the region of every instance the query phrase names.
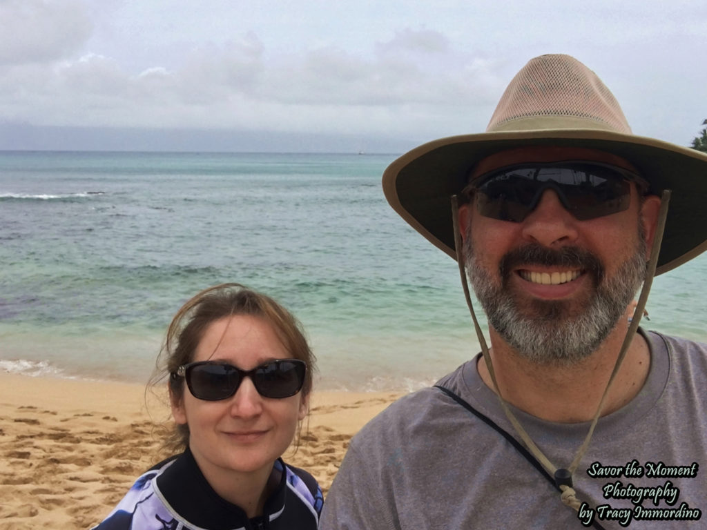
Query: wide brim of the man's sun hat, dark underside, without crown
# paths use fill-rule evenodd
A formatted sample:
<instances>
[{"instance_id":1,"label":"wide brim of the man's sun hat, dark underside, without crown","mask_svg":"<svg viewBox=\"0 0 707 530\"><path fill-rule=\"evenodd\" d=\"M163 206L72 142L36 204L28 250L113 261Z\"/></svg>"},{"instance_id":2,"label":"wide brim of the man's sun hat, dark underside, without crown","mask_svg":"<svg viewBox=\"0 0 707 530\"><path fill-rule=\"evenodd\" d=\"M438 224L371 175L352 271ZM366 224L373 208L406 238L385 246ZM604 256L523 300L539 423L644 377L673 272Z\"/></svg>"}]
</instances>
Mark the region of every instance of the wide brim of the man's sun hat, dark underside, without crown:
<instances>
[{"instance_id":1,"label":"wide brim of the man's sun hat, dark underside, without crown","mask_svg":"<svg viewBox=\"0 0 707 530\"><path fill-rule=\"evenodd\" d=\"M469 170L479 160L525 146L614 153L629 160L656 194L672 190L656 275L707 249L707 155L643 136L594 129L450 136L425 143L393 161L383 173L383 192L409 225L456 259L450 196L461 191Z\"/></svg>"}]
</instances>

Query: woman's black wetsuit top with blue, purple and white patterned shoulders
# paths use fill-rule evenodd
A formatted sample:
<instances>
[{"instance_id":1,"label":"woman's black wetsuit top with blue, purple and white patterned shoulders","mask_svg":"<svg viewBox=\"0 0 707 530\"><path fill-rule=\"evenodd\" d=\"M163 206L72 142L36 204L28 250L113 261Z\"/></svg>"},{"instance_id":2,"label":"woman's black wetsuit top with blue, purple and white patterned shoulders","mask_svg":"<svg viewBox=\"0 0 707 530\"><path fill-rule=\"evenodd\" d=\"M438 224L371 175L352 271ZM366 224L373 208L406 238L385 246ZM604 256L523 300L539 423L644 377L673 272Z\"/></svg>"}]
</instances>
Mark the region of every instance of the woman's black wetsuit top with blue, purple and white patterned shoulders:
<instances>
[{"instance_id":1,"label":"woman's black wetsuit top with blue, purple and white patterned shoulders","mask_svg":"<svg viewBox=\"0 0 707 530\"><path fill-rule=\"evenodd\" d=\"M216 494L187 449L141 475L93 530L316 530L324 498L315 478L281 459L273 472L279 485L249 519Z\"/></svg>"}]
</instances>

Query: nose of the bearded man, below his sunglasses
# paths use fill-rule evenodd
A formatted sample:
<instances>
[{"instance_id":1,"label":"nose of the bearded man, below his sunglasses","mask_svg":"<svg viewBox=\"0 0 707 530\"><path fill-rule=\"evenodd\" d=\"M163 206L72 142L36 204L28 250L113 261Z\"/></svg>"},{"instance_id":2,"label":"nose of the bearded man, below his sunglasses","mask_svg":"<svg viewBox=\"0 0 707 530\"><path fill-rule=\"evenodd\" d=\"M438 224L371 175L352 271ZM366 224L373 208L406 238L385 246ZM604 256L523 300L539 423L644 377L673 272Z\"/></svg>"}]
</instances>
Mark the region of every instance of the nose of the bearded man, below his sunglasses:
<instances>
[{"instance_id":1,"label":"nose of the bearded man, below his sunglasses","mask_svg":"<svg viewBox=\"0 0 707 530\"><path fill-rule=\"evenodd\" d=\"M557 247L577 239L577 223L557 193L546 189L535 209L522 221L522 234L545 247Z\"/></svg>"}]
</instances>

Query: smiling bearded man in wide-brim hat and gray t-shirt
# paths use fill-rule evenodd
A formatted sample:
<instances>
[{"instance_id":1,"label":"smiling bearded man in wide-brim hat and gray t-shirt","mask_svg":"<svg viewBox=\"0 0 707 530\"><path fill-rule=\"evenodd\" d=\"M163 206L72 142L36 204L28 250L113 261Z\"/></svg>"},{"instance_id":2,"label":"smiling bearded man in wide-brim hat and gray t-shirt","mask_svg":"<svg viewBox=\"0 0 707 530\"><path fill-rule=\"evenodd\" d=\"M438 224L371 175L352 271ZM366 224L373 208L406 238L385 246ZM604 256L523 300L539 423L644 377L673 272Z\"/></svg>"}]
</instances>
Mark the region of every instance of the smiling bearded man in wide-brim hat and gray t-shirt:
<instances>
[{"instance_id":1,"label":"smiling bearded man in wide-brim hat and gray t-shirt","mask_svg":"<svg viewBox=\"0 0 707 530\"><path fill-rule=\"evenodd\" d=\"M635 331L654 274L707 248L707 156L633 136L595 73L546 55L486 133L414 149L383 189L462 262L491 344L477 325L481 355L354 437L320 528L704 528L707 346Z\"/></svg>"}]
</instances>

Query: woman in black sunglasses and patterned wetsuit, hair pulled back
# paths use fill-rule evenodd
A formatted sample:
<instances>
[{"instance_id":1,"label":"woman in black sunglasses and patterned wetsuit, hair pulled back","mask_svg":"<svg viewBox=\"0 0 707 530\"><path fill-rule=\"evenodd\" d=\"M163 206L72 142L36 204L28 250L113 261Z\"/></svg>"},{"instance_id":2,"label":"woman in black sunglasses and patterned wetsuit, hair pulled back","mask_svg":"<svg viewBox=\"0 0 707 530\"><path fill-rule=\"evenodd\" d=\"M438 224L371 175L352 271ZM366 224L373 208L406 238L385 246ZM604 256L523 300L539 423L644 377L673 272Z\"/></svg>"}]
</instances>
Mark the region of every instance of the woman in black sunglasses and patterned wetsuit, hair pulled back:
<instances>
[{"instance_id":1,"label":"woman in black sunglasses and patterned wetsuit, hair pulled back","mask_svg":"<svg viewBox=\"0 0 707 530\"><path fill-rule=\"evenodd\" d=\"M153 377L169 375L168 445L181 452L95 529L316 529L319 485L280 458L308 413L313 362L300 325L271 298L237 283L194 296Z\"/></svg>"}]
</instances>

